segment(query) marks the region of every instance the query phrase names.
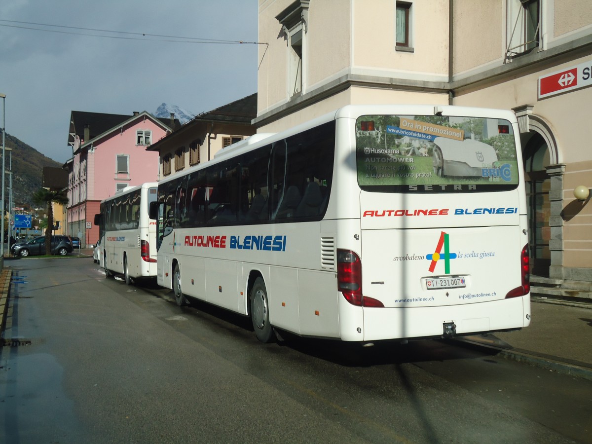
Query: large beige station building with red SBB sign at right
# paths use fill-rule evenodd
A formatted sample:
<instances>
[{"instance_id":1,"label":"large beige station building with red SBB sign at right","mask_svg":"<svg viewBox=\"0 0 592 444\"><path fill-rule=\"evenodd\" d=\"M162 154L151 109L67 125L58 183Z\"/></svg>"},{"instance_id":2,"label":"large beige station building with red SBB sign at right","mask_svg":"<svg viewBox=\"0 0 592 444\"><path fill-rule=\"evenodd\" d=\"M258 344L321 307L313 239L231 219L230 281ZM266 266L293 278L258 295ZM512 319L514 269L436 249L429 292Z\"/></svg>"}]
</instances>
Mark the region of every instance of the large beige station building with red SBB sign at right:
<instances>
[{"instance_id":1,"label":"large beige station building with red SBB sign at right","mask_svg":"<svg viewBox=\"0 0 592 444\"><path fill-rule=\"evenodd\" d=\"M533 292L592 298L590 0L259 0L258 41L258 132L348 104L514 110Z\"/></svg>"}]
</instances>

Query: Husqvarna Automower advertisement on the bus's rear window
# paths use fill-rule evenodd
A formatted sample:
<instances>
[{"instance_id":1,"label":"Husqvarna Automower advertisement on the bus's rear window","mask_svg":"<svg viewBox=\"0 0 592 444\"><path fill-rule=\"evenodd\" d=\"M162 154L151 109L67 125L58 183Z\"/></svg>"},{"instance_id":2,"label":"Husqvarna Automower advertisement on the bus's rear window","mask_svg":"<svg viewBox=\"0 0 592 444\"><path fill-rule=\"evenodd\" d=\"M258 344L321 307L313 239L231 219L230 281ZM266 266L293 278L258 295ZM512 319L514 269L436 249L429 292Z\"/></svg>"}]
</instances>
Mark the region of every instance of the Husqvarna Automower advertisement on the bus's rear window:
<instances>
[{"instance_id":1,"label":"Husqvarna Automower advertisement on the bus's rear window","mask_svg":"<svg viewBox=\"0 0 592 444\"><path fill-rule=\"evenodd\" d=\"M513 128L497 118L363 115L356 159L365 191L501 191L518 184Z\"/></svg>"}]
</instances>

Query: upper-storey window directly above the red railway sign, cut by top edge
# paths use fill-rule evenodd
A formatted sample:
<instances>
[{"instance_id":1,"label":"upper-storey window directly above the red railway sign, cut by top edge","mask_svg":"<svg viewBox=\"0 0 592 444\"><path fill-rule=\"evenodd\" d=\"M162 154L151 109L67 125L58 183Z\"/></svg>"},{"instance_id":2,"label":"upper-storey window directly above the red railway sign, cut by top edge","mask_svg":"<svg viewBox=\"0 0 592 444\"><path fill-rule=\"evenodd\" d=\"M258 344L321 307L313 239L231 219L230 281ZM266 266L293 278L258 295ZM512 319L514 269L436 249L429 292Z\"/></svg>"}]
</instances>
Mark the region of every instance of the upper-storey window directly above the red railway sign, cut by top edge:
<instances>
[{"instance_id":1,"label":"upper-storey window directly above the red railway sign, cut by top edge","mask_svg":"<svg viewBox=\"0 0 592 444\"><path fill-rule=\"evenodd\" d=\"M540 0L508 0L506 60L531 52L540 44Z\"/></svg>"}]
</instances>

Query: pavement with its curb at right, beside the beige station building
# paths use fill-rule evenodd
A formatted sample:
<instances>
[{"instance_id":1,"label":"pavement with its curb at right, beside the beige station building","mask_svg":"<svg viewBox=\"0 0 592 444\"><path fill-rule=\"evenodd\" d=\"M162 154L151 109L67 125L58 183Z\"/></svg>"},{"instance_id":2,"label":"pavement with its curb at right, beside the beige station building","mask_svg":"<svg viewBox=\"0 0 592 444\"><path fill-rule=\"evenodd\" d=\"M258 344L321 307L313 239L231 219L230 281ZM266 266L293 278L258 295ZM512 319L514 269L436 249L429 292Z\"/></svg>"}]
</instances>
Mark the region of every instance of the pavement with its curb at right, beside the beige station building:
<instances>
[{"instance_id":1,"label":"pavement with its curb at right, beside the beige station building","mask_svg":"<svg viewBox=\"0 0 592 444\"><path fill-rule=\"evenodd\" d=\"M466 336L468 345L498 356L592 380L592 304L532 297L530 326L516 332Z\"/></svg>"}]
</instances>

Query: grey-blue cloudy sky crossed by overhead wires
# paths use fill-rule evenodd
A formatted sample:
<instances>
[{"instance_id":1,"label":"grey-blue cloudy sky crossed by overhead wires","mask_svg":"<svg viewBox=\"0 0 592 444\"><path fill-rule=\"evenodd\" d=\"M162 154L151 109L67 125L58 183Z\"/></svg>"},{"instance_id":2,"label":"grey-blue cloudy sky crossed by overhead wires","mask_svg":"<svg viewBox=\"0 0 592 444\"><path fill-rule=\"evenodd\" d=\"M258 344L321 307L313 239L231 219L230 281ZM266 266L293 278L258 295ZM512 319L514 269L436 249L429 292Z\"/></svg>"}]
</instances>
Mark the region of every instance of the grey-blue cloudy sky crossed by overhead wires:
<instances>
[{"instance_id":1,"label":"grey-blue cloudy sky crossed by overhead wires","mask_svg":"<svg viewBox=\"0 0 592 444\"><path fill-rule=\"evenodd\" d=\"M257 40L256 0L2 0L6 131L65 162L72 110L198 114L253 94L256 45L221 40Z\"/></svg>"}]
</instances>

